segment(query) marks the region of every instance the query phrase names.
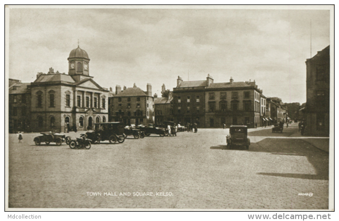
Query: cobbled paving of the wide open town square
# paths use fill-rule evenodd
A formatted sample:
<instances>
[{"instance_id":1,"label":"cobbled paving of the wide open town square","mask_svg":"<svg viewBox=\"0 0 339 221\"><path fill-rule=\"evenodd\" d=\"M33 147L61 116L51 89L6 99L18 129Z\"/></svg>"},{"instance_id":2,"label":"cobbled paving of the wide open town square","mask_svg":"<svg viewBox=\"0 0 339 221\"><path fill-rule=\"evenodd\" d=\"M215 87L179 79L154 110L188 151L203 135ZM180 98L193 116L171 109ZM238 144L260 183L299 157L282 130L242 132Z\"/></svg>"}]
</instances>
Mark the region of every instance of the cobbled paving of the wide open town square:
<instances>
[{"instance_id":1,"label":"cobbled paving of the wide open town square","mask_svg":"<svg viewBox=\"0 0 339 221\"><path fill-rule=\"evenodd\" d=\"M288 128L285 136L297 130ZM270 138L265 129L249 133L266 138L248 151L227 150L226 133L199 129L90 150L35 146L36 134L24 134L17 143L16 135L9 135L9 207L328 208L327 152L302 139ZM136 192L155 196L133 196ZM102 195L89 195L94 193Z\"/></svg>"}]
</instances>

